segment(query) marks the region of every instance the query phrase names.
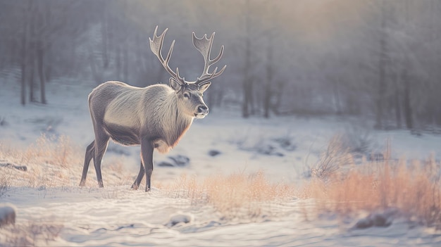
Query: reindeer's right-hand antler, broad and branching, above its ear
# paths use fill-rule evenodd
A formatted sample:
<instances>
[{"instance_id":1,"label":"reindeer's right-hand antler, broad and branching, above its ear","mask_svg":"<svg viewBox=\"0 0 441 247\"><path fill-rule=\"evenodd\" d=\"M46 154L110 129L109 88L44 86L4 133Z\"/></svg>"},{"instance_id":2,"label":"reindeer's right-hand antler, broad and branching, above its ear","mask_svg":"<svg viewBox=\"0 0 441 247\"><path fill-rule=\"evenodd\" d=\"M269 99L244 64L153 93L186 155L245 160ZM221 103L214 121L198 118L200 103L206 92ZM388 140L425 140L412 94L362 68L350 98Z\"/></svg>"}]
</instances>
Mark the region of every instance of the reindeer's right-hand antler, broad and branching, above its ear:
<instances>
[{"instance_id":1,"label":"reindeer's right-hand antler, broad and branching, above its ear","mask_svg":"<svg viewBox=\"0 0 441 247\"><path fill-rule=\"evenodd\" d=\"M221 46L221 52L219 53L219 55L213 60L211 60L210 53L211 53L211 46L213 45L213 38L214 38L214 32L211 34L210 39L206 38L206 34L204 34L204 37L199 39L198 37L196 37L196 34L194 34L193 32L193 45L202 54L202 56L204 56L204 62L205 62L204 72L202 72L202 75L200 77L197 77L197 81L195 82L198 85L201 84L202 82L206 82L215 77L218 77L223 73L223 70L227 68L227 65L225 65L221 70L216 72L218 70L218 67L216 67L213 70L213 72L209 73L210 66L213 65L214 63L217 63L223 55L223 46Z\"/></svg>"}]
</instances>

